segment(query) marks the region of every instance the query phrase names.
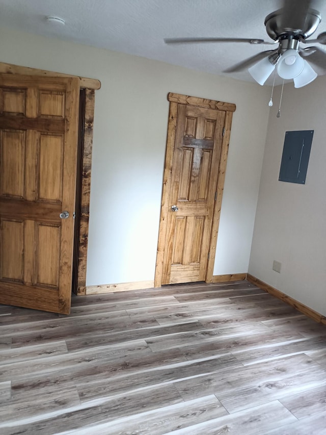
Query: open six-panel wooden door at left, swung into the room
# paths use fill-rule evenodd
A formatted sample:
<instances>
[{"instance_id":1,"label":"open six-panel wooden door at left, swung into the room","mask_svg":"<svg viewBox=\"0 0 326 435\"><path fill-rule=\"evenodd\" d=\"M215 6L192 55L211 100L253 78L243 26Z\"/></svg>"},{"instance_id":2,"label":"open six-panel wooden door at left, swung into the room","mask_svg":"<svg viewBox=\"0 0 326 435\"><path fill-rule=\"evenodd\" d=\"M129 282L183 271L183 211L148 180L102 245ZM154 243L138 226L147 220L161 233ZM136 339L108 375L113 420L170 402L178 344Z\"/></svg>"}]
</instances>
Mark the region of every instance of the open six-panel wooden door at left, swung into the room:
<instances>
[{"instance_id":1,"label":"open six-panel wooden door at left, swung into the room","mask_svg":"<svg viewBox=\"0 0 326 435\"><path fill-rule=\"evenodd\" d=\"M0 303L70 312L78 99L77 78L0 74Z\"/></svg>"}]
</instances>

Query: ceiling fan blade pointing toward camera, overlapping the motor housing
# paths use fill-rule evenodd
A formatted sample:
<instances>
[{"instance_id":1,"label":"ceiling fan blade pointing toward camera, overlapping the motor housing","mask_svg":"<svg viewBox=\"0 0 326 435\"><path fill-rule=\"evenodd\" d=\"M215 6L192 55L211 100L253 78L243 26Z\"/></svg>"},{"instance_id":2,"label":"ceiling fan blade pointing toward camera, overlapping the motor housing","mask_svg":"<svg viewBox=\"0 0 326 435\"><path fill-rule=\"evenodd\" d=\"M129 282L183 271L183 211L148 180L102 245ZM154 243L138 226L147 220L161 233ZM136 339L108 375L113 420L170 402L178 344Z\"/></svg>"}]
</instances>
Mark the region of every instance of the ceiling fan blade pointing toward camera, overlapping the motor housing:
<instances>
[{"instance_id":1,"label":"ceiling fan blade pointing toward camera, overlapping the motor housing","mask_svg":"<svg viewBox=\"0 0 326 435\"><path fill-rule=\"evenodd\" d=\"M282 14L282 28L287 30L303 29L307 12L312 0L284 0Z\"/></svg>"}]
</instances>

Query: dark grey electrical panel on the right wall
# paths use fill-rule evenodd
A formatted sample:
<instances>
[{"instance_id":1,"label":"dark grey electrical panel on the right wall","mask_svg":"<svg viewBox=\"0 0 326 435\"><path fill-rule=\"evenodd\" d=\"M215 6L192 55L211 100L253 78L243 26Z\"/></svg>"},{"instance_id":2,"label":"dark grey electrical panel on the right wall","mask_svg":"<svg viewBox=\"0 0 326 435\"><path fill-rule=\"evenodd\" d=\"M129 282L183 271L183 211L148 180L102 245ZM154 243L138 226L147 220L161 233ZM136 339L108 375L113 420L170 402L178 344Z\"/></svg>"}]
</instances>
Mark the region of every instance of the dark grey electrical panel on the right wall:
<instances>
[{"instance_id":1,"label":"dark grey electrical panel on the right wall","mask_svg":"<svg viewBox=\"0 0 326 435\"><path fill-rule=\"evenodd\" d=\"M279 181L306 183L313 134L313 130L285 133Z\"/></svg>"}]
</instances>

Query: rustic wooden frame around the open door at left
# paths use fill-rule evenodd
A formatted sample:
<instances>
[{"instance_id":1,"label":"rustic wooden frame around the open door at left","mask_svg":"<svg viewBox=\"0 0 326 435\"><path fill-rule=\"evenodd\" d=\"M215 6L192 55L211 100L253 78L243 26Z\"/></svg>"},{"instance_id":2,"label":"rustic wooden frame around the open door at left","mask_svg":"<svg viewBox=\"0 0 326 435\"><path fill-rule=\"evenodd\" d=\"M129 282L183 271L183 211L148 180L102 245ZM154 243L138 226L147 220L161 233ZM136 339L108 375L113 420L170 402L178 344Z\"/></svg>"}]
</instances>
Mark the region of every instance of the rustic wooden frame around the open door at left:
<instances>
[{"instance_id":1,"label":"rustic wooden frame around the open door at left","mask_svg":"<svg viewBox=\"0 0 326 435\"><path fill-rule=\"evenodd\" d=\"M29 68L25 66L12 65L0 62L0 73L6 74L23 74L23 75L40 75L45 77L76 77L71 74L61 72L47 71L44 69ZM101 82L96 79L77 77L79 79L79 88L85 89L85 117L84 117L84 135L82 141L82 180L77 183L82 185L82 199L80 203L80 223L79 223L79 247L78 247L78 271L77 271L77 288L73 289L77 295L86 295L86 268L87 268L87 247L89 231L89 206L90 206L90 188L91 188L91 166L92 166L92 146L93 146L93 124L94 124L94 104L95 90L100 89Z\"/></svg>"}]
</instances>

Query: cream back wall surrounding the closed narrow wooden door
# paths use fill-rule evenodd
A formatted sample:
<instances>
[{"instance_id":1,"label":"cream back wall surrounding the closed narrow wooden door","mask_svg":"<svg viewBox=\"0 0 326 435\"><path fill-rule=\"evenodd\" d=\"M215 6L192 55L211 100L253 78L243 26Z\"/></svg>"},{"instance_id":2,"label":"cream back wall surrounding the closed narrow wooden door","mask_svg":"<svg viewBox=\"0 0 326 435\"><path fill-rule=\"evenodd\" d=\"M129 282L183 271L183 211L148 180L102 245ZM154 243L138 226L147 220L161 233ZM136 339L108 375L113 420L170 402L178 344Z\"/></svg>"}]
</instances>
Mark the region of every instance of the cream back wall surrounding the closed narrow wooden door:
<instances>
[{"instance_id":1,"label":"cream back wall surrounding the closed narrow wooden door","mask_svg":"<svg viewBox=\"0 0 326 435\"><path fill-rule=\"evenodd\" d=\"M168 92L235 103L214 275L247 272L270 89L0 29L0 60L99 79L87 285L154 279Z\"/></svg>"}]
</instances>

